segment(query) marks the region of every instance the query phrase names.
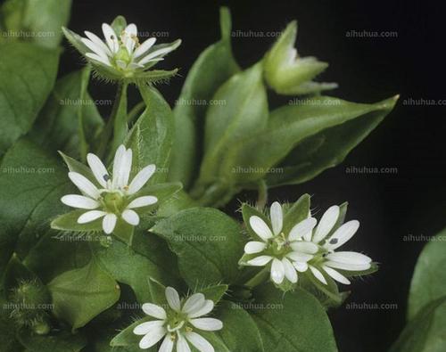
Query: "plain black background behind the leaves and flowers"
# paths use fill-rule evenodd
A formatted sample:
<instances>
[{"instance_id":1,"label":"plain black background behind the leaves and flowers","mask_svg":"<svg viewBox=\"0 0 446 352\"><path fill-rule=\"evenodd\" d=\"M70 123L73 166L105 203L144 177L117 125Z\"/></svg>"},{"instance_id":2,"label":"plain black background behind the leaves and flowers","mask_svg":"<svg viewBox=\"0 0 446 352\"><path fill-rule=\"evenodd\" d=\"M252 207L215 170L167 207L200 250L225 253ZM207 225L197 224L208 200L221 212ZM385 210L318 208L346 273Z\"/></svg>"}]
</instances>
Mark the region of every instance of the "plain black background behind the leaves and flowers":
<instances>
[{"instance_id":1,"label":"plain black background behind the leaves and flowers","mask_svg":"<svg viewBox=\"0 0 446 352\"><path fill-rule=\"evenodd\" d=\"M445 12L442 4L427 1L87 1L75 0L70 29L100 34L103 21L125 15L139 30L168 31L183 45L162 62L181 68L181 76L160 86L173 104L186 73L202 50L219 38L219 5L228 4L233 30L269 32L299 21L298 50L328 61L322 75L340 87L330 94L354 102L376 102L401 94L395 111L368 136L343 165L313 181L270 192L271 200L294 201L301 193L313 195L320 217L332 204L350 202L348 219L361 227L349 250L367 253L381 263L380 271L351 285L348 303L392 304L397 308L341 307L330 312L342 352L384 351L405 323L410 277L425 241L403 241L405 235L434 235L445 225L444 108L408 99L446 99L443 51ZM347 37L346 32L396 31L398 37ZM271 37L234 37L236 59L247 67L273 43ZM62 56L61 74L80 68L77 53ZM94 83L96 99L111 99L112 86ZM406 100L406 102L405 102ZM446 104L446 101L444 102ZM106 111L105 111L106 112ZM349 167L397 168L393 174L351 174ZM252 197L239 195L240 200ZM228 208L234 211L235 201ZM296 320L299 317L296 316ZM322 352L322 351L321 351Z\"/></svg>"}]
</instances>

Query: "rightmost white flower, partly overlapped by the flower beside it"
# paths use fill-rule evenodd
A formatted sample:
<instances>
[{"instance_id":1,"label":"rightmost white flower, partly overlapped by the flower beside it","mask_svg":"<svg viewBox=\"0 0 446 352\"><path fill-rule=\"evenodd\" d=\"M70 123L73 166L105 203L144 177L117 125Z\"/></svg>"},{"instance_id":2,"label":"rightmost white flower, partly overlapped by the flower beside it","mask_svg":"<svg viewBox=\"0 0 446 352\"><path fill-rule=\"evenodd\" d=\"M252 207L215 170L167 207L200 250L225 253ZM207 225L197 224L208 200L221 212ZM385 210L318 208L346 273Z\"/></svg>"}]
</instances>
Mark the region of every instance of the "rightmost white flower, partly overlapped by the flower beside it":
<instances>
[{"instance_id":1,"label":"rightmost white flower, partly overlapped by the flower beside it","mask_svg":"<svg viewBox=\"0 0 446 352\"><path fill-rule=\"evenodd\" d=\"M316 244L322 249L322 254L318 256L318 258L312 260L314 261L314 265L310 264L310 271L324 284L327 283L326 278L320 270L325 271L326 274L331 276L337 282L350 284L350 280L338 270L349 272L363 271L368 270L371 267L372 259L364 254L352 251L335 251L345 242L350 241L351 237L353 237L359 228L359 221L351 220L341 225L332 233L339 215L340 209L338 206L330 207L321 217L314 233L310 232L306 236L303 236L305 242Z\"/></svg>"}]
</instances>

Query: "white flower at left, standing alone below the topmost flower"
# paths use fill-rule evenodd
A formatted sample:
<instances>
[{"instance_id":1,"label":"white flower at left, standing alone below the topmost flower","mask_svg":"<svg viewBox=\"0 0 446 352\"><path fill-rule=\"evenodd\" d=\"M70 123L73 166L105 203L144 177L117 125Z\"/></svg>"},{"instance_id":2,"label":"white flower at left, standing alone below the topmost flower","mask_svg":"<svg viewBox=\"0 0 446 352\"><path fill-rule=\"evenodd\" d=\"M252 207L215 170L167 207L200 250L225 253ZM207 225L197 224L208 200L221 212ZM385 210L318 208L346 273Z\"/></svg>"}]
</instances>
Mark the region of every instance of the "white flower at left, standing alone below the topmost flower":
<instances>
[{"instance_id":1,"label":"white flower at left, standing alone below the topmost flower","mask_svg":"<svg viewBox=\"0 0 446 352\"><path fill-rule=\"evenodd\" d=\"M153 195L136 197L136 193L155 172L155 166L146 166L129 182L132 150L126 150L124 145L120 145L116 151L112 176L95 154L89 153L87 162L99 187L86 176L71 171L68 176L83 195L68 194L61 199L62 203L70 207L87 209L78 217L78 224L86 224L103 217L104 233L112 233L119 218L130 225L138 225L139 216L134 209L147 207L158 201Z\"/></svg>"}]
</instances>

